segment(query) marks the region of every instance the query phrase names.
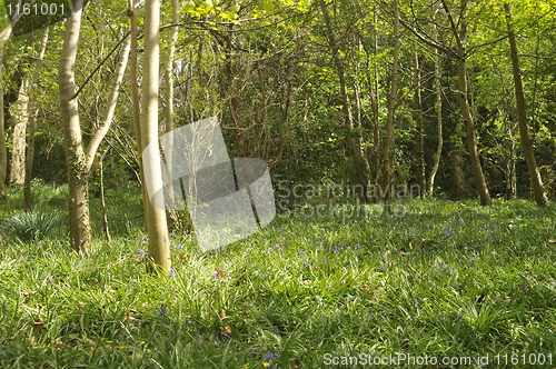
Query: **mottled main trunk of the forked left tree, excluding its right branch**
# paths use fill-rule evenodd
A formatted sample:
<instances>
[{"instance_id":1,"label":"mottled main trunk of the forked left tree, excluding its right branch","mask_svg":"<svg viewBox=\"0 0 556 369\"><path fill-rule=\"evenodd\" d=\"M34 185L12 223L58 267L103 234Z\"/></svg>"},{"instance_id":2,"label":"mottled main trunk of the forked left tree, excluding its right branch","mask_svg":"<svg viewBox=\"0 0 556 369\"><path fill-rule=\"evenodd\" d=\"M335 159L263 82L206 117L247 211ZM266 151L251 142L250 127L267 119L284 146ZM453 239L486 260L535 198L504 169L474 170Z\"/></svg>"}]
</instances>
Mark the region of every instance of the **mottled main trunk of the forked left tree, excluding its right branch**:
<instances>
[{"instance_id":1,"label":"mottled main trunk of the forked left tree, excluding its right branch","mask_svg":"<svg viewBox=\"0 0 556 369\"><path fill-rule=\"evenodd\" d=\"M70 10L66 20L58 81L68 164L70 242L75 250L87 255L91 239L91 227L89 223L86 157L79 126L78 102L77 99L72 99L76 93L75 64L82 3L82 0L73 0L73 9Z\"/></svg>"}]
</instances>

